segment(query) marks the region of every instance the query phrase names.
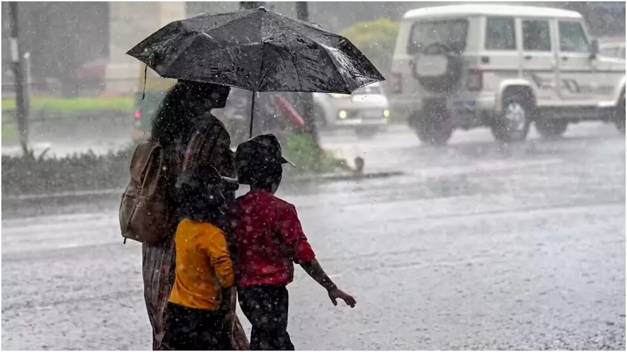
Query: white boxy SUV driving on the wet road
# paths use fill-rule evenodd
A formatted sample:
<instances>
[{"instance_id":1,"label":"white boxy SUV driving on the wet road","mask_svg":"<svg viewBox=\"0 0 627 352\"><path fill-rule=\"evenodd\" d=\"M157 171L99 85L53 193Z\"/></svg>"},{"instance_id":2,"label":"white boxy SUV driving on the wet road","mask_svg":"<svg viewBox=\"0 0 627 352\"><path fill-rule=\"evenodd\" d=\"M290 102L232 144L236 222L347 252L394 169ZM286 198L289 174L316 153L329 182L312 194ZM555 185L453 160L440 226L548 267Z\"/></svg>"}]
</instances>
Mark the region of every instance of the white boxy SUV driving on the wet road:
<instances>
[{"instance_id":1,"label":"white boxy SUV driving on the wet road","mask_svg":"<svg viewBox=\"0 0 627 352\"><path fill-rule=\"evenodd\" d=\"M571 122L614 122L624 132L625 61L599 54L581 14L468 4L404 14L389 89L394 115L424 143L488 126L497 140L544 137Z\"/></svg>"}]
</instances>

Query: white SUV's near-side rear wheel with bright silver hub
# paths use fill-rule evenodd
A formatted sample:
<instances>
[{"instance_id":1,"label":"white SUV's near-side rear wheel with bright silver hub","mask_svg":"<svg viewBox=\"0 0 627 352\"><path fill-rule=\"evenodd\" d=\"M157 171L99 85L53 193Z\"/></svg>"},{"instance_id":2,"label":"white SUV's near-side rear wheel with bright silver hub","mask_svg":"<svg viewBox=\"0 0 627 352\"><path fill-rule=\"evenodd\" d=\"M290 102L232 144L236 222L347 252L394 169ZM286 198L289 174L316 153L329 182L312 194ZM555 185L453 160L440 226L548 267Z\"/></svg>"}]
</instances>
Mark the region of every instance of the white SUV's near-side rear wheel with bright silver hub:
<instances>
[{"instance_id":1,"label":"white SUV's near-side rear wheel with bright silver hub","mask_svg":"<svg viewBox=\"0 0 627 352\"><path fill-rule=\"evenodd\" d=\"M492 122L492 135L502 142L525 140L531 125L532 111L529 95L521 93L505 95L503 109Z\"/></svg>"}]
</instances>

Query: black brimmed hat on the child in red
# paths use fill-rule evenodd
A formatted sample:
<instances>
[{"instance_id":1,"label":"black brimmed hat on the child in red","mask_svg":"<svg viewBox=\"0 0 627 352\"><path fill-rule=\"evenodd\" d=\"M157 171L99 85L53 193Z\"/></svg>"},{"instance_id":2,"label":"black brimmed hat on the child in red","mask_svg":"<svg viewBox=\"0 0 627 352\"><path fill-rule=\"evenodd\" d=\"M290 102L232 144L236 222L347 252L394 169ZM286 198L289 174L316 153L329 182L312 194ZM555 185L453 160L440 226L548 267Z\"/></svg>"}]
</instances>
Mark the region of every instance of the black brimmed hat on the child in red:
<instances>
[{"instance_id":1,"label":"black brimmed hat on the child in red","mask_svg":"<svg viewBox=\"0 0 627 352\"><path fill-rule=\"evenodd\" d=\"M246 142L240 143L235 152L238 177L241 184L250 182L251 172L255 168L263 168L288 163L296 167L294 163L283 157L281 143L275 135L258 135Z\"/></svg>"}]
</instances>

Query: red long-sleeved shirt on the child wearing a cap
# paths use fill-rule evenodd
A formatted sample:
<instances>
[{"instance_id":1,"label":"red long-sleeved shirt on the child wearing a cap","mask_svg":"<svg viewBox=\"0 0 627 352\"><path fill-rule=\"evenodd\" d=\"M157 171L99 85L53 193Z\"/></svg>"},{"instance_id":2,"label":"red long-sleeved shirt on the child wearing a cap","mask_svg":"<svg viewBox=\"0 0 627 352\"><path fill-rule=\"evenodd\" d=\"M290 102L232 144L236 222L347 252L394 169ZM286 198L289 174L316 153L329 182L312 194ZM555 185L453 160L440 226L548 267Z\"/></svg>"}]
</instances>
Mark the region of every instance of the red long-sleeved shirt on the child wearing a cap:
<instances>
[{"instance_id":1,"label":"red long-sleeved shirt on the child wearing a cap","mask_svg":"<svg viewBox=\"0 0 627 352\"><path fill-rule=\"evenodd\" d=\"M315 258L296 208L269 192L251 191L236 199L231 229L238 287L289 284L293 263Z\"/></svg>"}]
</instances>

